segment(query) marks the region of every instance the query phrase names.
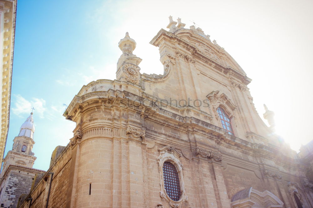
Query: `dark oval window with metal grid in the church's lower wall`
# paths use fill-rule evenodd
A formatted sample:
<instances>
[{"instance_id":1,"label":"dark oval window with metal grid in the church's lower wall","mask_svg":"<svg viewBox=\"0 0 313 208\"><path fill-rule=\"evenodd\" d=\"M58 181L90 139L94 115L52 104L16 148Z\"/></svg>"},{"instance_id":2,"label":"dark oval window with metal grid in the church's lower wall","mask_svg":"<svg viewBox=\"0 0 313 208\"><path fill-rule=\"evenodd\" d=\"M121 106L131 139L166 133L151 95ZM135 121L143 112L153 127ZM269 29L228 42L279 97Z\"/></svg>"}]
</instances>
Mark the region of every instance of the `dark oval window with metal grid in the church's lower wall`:
<instances>
[{"instance_id":1,"label":"dark oval window with metal grid in the church's lower wall","mask_svg":"<svg viewBox=\"0 0 313 208\"><path fill-rule=\"evenodd\" d=\"M163 179L167 196L173 201L178 201L182 195L179 176L176 167L169 161L163 163Z\"/></svg>"}]
</instances>

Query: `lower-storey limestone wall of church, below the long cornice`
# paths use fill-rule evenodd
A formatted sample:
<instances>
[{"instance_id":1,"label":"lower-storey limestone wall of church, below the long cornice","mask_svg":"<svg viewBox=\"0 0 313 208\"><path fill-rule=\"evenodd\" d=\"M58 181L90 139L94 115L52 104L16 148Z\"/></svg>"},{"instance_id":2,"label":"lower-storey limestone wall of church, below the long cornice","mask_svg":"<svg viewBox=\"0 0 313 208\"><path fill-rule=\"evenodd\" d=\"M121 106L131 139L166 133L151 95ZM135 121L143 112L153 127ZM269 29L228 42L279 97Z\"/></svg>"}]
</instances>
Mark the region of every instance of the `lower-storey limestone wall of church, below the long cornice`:
<instances>
[{"instance_id":1,"label":"lower-storey limestone wall of church, below the long cornice","mask_svg":"<svg viewBox=\"0 0 313 208\"><path fill-rule=\"evenodd\" d=\"M312 196L301 187L301 173L292 171L296 169L294 163L290 171L284 171L283 161L277 161L275 167L261 164L261 150L234 145L231 137L221 139L195 126L183 128L174 117L171 120L155 114L145 118L134 109L99 106L97 102L80 110L76 130L81 136L74 136L49 169L54 172L49 207L156 207L159 203L164 208L172 207L160 196L162 170L158 169L157 158L159 149L165 146L181 154L188 197L181 207L230 207L234 194L249 187L268 190L285 207L293 207L289 181L299 185L303 202L311 206ZM211 151L211 156L202 156L197 148L202 153ZM31 192L31 207L45 205L49 181L46 174ZM23 207L27 206L24 202Z\"/></svg>"}]
</instances>

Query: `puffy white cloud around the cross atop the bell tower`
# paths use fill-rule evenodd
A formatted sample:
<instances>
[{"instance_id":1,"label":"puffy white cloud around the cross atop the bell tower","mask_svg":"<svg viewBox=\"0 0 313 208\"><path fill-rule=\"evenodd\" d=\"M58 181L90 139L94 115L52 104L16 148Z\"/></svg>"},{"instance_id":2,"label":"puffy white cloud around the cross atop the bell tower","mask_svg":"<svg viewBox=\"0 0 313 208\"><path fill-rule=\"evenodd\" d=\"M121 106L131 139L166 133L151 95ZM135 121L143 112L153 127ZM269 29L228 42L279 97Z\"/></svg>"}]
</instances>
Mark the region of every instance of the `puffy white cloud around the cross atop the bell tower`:
<instances>
[{"instance_id":1,"label":"puffy white cloud around the cross atop the bell tower","mask_svg":"<svg viewBox=\"0 0 313 208\"><path fill-rule=\"evenodd\" d=\"M36 114L40 118L44 118L47 116L45 114L47 108L46 101L42 98L36 98L33 97L32 100L28 101L21 95L13 95L15 97L15 103L14 107L12 108L12 112L17 116L22 116L23 114L28 114L31 112L31 108L35 108ZM48 118L50 118L50 114L48 115Z\"/></svg>"}]
</instances>

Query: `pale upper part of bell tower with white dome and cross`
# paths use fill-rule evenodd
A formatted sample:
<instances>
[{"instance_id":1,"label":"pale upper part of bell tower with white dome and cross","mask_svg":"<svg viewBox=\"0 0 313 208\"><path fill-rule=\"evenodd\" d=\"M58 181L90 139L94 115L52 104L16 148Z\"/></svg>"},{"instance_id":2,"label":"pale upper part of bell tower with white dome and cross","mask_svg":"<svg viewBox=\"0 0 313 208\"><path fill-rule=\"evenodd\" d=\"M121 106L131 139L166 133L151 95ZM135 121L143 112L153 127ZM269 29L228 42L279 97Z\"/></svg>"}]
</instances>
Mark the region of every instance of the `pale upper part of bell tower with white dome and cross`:
<instances>
[{"instance_id":1,"label":"pale upper part of bell tower with white dome and cross","mask_svg":"<svg viewBox=\"0 0 313 208\"><path fill-rule=\"evenodd\" d=\"M33 121L33 113L30 113L30 116L22 124L18 136L13 140L12 150L8 151L8 154L3 160L1 175L3 175L9 165L33 167L34 161L37 159L32 152L33 145L35 144L33 140L33 133L35 132Z\"/></svg>"}]
</instances>

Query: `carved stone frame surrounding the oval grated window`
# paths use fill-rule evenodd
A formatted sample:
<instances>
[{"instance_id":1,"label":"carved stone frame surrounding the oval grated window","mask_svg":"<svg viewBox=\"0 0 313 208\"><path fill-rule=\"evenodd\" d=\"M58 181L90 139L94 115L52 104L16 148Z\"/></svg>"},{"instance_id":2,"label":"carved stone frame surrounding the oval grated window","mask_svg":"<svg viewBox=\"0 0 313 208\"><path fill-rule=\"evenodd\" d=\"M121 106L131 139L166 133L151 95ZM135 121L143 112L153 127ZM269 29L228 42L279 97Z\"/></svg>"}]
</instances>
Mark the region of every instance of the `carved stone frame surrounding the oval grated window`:
<instances>
[{"instance_id":1,"label":"carved stone frame surrounding the oval grated window","mask_svg":"<svg viewBox=\"0 0 313 208\"><path fill-rule=\"evenodd\" d=\"M184 184L184 179L183 179L183 165L179 161L179 157L182 155L178 153L178 151L174 147L170 146L165 146L163 148L158 149L160 152L160 156L156 159L157 163L159 164L158 166L158 171L160 173L160 185L161 185L161 191L160 191L160 196L164 198L166 201L169 202L171 207L181 207L182 202L188 201L188 196L186 195L185 191L185 184ZM164 178L163 178L163 164L165 161L171 162L175 167L178 172L178 177L179 177L179 183L180 183L180 189L181 189L181 196L178 201L173 201L166 193L165 187L164 187Z\"/></svg>"}]
</instances>

